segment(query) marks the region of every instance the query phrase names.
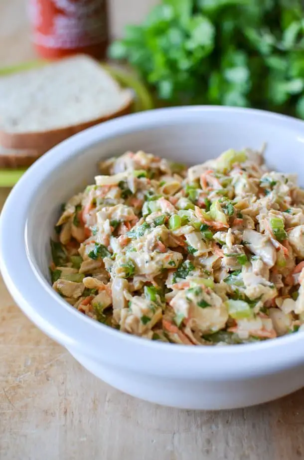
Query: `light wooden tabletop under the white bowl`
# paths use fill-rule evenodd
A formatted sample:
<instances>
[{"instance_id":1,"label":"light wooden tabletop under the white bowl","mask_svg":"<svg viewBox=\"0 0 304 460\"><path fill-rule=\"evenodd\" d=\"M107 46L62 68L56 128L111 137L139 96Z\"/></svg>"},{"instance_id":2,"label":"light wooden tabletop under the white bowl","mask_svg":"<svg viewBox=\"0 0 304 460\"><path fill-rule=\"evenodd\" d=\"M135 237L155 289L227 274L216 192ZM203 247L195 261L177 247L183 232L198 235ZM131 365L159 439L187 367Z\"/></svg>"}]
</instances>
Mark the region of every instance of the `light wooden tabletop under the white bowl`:
<instances>
[{"instance_id":1,"label":"light wooden tabletop under the white bowl","mask_svg":"<svg viewBox=\"0 0 304 460\"><path fill-rule=\"evenodd\" d=\"M113 1L115 33L153 2ZM33 57L23 3L0 0L0 65ZM1 206L7 193L0 189ZM304 458L304 391L218 413L153 406L82 369L25 318L2 282L0 317L0 460Z\"/></svg>"}]
</instances>

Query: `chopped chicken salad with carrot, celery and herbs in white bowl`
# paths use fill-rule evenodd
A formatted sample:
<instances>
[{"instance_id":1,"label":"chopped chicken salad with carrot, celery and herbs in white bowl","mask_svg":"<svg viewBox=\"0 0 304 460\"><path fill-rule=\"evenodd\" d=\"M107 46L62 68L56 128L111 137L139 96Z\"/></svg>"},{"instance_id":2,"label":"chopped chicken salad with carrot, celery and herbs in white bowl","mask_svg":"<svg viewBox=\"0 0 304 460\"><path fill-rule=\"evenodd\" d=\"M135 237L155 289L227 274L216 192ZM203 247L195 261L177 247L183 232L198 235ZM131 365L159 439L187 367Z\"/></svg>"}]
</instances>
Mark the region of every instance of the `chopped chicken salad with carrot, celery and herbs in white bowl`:
<instances>
[{"instance_id":1,"label":"chopped chicken salad with carrot, celery and herbs in white bowl","mask_svg":"<svg viewBox=\"0 0 304 460\"><path fill-rule=\"evenodd\" d=\"M184 345L304 330L304 191L232 149L186 166L127 152L62 209L53 288L91 318Z\"/></svg>"}]
</instances>

